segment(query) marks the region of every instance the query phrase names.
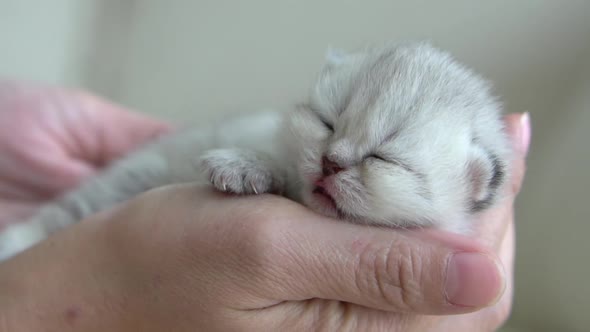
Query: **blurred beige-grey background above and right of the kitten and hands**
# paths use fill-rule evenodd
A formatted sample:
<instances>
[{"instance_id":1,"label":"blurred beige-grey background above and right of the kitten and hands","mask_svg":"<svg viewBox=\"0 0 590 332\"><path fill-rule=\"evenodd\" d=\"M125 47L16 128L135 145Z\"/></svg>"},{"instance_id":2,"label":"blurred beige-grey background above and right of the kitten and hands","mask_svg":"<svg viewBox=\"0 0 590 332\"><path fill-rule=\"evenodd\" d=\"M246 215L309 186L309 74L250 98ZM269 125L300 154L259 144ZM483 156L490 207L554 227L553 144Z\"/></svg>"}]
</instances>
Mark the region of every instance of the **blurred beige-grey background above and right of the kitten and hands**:
<instances>
[{"instance_id":1,"label":"blurred beige-grey background above and right of the kitten and hands","mask_svg":"<svg viewBox=\"0 0 590 332\"><path fill-rule=\"evenodd\" d=\"M328 46L429 39L531 112L506 331L590 330L590 1L0 0L0 77L203 123L300 101Z\"/></svg>"}]
</instances>

